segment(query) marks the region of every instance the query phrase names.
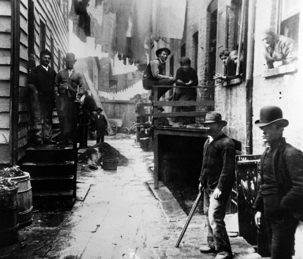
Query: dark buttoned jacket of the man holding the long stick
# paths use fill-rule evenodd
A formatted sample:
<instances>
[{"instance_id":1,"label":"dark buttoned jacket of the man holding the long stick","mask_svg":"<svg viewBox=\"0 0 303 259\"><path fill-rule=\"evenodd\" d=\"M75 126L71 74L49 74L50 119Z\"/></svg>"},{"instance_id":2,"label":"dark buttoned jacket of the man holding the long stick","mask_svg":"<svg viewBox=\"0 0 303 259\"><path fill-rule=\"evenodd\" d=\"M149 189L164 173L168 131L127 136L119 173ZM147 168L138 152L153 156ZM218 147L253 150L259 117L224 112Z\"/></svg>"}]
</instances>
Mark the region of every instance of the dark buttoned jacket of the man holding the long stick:
<instances>
[{"instance_id":1,"label":"dark buttoned jacket of the man holding the long stick","mask_svg":"<svg viewBox=\"0 0 303 259\"><path fill-rule=\"evenodd\" d=\"M205 141L203 165L199 179L204 187L218 188L229 196L235 175L235 144L224 133L209 143Z\"/></svg>"}]
</instances>

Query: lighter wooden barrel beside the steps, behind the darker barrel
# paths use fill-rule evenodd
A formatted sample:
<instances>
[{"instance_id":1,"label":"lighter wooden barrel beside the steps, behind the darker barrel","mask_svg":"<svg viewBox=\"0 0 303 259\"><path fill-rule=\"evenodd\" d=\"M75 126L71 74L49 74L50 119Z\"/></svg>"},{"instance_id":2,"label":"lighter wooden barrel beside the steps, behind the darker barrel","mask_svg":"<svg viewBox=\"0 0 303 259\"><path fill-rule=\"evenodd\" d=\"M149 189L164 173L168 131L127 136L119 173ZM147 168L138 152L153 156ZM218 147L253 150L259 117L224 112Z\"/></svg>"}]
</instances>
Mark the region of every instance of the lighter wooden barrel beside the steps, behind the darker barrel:
<instances>
[{"instance_id":1,"label":"lighter wooden barrel beside the steps, behind the darker barrel","mask_svg":"<svg viewBox=\"0 0 303 259\"><path fill-rule=\"evenodd\" d=\"M12 181L18 184L18 202L19 202L19 225L27 225L32 222L32 186L30 182L30 175L27 172L23 172L23 176L17 176L10 178Z\"/></svg>"}]
</instances>

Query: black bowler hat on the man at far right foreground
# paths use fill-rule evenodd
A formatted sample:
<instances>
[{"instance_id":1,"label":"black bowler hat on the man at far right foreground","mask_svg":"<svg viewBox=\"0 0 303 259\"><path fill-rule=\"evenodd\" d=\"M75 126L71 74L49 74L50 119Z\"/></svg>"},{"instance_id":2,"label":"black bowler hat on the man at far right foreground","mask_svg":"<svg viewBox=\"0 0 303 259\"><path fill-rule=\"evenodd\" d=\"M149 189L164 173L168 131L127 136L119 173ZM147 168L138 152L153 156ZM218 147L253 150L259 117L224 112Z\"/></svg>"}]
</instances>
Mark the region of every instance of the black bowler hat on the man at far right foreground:
<instances>
[{"instance_id":1,"label":"black bowler hat on the man at far right foreground","mask_svg":"<svg viewBox=\"0 0 303 259\"><path fill-rule=\"evenodd\" d=\"M278 106L264 106L260 110L260 119L255 121L255 125L263 127L273 122L280 121L283 127L288 126L288 120L283 119L282 110Z\"/></svg>"}]
</instances>

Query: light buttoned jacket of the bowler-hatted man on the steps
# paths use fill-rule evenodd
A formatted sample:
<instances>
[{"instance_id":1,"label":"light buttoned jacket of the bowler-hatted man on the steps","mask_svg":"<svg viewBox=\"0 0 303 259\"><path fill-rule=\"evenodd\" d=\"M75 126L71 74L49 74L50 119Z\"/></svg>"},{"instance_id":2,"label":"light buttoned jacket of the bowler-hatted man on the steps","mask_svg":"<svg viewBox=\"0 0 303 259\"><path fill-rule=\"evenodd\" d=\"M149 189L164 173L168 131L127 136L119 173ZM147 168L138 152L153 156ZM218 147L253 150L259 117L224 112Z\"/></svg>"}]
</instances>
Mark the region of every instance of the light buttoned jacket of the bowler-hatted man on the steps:
<instances>
[{"instance_id":1,"label":"light buttoned jacket of the bowler-hatted man on the steps","mask_svg":"<svg viewBox=\"0 0 303 259\"><path fill-rule=\"evenodd\" d=\"M58 72L55 79L54 94L65 95L66 91L69 97L76 98L77 95L78 99L81 98L85 92L84 79L81 72L75 69L70 77L66 68Z\"/></svg>"}]
</instances>

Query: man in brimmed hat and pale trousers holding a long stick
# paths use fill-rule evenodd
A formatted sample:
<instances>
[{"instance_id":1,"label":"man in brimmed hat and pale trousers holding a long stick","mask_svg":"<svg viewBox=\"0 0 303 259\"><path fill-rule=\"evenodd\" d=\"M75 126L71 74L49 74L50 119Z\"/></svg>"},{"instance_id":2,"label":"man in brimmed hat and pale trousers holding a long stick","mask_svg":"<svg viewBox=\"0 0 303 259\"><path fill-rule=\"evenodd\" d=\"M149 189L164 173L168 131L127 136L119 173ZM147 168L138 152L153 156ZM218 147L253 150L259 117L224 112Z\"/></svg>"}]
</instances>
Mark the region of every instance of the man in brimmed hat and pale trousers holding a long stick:
<instances>
[{"instance_id":1,"label":"man in brimmed hat and pale trousers holding a long stick","mask_svg":"<svg viewBox=\"0 0 303 259\"><path fill-rule=\"evenodd\" d=\"M224 217L235 177L235 144L222 128L227 125L218 112L208 112L203 123L209 138L204 144L199 191L204 187L204 214L208 225L207 245L202 253L217 253L215 259L233 258Z\"/></svg>"}]
</instances>

